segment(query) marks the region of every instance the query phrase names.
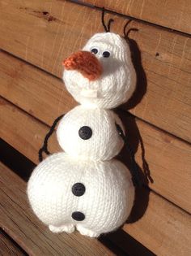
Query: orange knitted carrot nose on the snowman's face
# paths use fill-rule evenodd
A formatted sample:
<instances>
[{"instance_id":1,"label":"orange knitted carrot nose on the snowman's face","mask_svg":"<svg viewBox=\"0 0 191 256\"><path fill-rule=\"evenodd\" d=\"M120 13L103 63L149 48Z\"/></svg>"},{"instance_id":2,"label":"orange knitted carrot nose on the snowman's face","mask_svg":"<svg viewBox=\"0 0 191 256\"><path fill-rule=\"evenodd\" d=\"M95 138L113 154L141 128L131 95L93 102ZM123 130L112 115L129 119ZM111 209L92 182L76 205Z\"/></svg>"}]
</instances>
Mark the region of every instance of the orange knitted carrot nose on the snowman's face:
<instances>
[{"instance_id":1,"label":"orange knitted carrot nose on the snowman's face","mask_svg":"<svg viewBox=\"0 0 191 256\"><path fill-rule=\"evenodd\" d=\"M66 70L79 71L84 77L93 81L102 73L100 61L89 51L79 51L63 61Z\"/></svg>"}]
</instances>

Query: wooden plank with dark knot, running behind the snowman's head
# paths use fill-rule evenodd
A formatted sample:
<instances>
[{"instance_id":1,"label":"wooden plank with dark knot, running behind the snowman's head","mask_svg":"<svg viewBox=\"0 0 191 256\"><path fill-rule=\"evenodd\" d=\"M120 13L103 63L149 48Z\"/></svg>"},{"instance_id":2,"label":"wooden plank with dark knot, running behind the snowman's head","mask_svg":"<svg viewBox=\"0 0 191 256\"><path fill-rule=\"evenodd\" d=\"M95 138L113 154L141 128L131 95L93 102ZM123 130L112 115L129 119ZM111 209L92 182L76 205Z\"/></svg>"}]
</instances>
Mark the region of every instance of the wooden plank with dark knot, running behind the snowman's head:
<instances>
[{"instance_id":1,"label":"wooden plank with dark knot, running behind the snowman's head","mask_svg":"<svg viewBox=\"0 0 191 256\"><path fill-rule=\"evenodd\" d=\"M112 32L122 35L127 20L108 16L115 19ZM0 24L2 49L58 77L62 59L79 50L92 34L103 32L100 11L56 0L5 0ZM130 33L138 44L132 46L138 90L125 108L134 107L134 115L191 141L191 39L138 22L129 28L139 29Z\"/></svg>"}]
</instances>

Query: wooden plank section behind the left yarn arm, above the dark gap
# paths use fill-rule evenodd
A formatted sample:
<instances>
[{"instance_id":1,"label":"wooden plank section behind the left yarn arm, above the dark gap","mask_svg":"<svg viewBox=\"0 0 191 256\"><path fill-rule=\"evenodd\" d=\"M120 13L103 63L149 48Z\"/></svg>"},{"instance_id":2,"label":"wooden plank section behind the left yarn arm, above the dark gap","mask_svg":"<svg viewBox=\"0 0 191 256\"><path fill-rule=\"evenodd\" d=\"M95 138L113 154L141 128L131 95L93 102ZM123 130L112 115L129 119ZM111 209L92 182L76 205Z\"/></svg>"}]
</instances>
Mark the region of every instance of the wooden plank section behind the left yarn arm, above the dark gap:
<instances>
[{"instance_id":1,"label":"wooden plank section behind the left yarn arm, above the dark gap","mask_svg":"<svg viewBox=\"0 0 191 256\"><path fill-rule=\"evenodd\" d=\"M38 163L38 150L43 144L49 127L15 108L14 105L2 98L0 98L0 106L0 119L2 122L0 137L31 159L32 162ZM55 134L50 138L49 150L50 152L61 151Z\"/></svg>"}]
</instances>

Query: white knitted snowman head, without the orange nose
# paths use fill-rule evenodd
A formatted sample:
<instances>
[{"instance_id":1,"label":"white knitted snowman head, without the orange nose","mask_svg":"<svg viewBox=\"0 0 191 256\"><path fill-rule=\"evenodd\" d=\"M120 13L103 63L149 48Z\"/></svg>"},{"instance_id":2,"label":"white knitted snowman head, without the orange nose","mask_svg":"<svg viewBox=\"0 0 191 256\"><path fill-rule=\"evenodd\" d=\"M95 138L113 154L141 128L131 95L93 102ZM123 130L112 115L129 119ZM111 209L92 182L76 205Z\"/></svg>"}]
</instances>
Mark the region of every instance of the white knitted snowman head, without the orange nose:
<instances>
[{"instance_id":1,"label":"white knitted snowman head, without the orange nose","mask_svg":"<svg viewBox=\"0 0 191 256\"><path fill-rule=\"evenodd\" d=\"M136 73L125 39L115 33L97 33L87 41L83 50L97 51L95 55L103 72L99 79L88 80L78 71L65 70L63 80L75 100L107 109L127 102L134 93ZM104 52L110 54L108 58L104 57Z\"/></svg>"}]
</instances>

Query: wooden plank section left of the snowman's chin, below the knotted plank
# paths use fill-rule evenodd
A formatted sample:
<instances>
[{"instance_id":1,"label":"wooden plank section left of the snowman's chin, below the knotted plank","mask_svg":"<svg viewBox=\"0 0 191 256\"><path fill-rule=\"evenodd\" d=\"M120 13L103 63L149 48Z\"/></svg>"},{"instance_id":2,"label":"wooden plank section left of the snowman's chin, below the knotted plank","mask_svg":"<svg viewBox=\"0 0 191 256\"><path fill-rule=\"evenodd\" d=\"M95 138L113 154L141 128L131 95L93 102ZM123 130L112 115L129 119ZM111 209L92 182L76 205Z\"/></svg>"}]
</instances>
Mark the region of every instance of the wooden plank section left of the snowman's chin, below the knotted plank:
<instances>
[{"instance_id":1,"label":"wooden plank section left of the snowman's chin, below the knotted plank","mask_svg":"<svg viewBox=\"0 0 191 256\"><path fill-rule=\"evenodd\" d=\"M46 124L77 105L61 79L1 51L0 73L0 95Z\"/></svg>"}]
</instances>

